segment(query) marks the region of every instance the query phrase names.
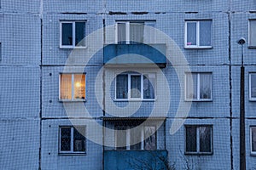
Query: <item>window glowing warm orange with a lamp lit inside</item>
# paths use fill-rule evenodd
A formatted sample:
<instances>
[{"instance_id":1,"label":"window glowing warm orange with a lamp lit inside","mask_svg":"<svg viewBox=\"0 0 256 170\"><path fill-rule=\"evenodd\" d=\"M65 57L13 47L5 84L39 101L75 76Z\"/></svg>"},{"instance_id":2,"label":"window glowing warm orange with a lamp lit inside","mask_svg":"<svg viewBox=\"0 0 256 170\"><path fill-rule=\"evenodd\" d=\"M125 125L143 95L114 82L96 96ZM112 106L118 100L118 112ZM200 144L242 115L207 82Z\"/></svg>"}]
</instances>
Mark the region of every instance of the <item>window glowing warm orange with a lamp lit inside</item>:
<instances>
[{"instance_id":1,"label":"window glowing warm orange with a lamp lit inside","mask_svg":"<svg viewBox=\"0 0 256 170\"><path fill-rule=\"evenodd\" d=\"M59 98L61 100L84 100L85 74L61 73Z\"/></svg>"}]
</instances>

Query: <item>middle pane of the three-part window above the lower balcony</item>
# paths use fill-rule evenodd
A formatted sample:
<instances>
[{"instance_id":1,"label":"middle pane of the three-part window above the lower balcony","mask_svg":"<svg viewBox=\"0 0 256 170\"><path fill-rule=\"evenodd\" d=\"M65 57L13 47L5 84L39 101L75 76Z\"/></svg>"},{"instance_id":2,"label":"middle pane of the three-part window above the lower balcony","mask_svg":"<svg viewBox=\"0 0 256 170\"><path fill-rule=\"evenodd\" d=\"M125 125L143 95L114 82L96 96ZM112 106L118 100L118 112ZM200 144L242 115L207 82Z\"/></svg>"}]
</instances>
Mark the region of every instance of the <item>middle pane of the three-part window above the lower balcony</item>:
<instances>
[{"instance_id":1,"label":"middle pane of the three-part window above the lower balcony","mask_svg":"<svg viewBox=\"0 0 256 170\"><path fill-rule=\"evenodd\" d=\"M141 130L135 130L131 129L131 150L142 150L142 131Z\"/></svg>"}]
</instances>

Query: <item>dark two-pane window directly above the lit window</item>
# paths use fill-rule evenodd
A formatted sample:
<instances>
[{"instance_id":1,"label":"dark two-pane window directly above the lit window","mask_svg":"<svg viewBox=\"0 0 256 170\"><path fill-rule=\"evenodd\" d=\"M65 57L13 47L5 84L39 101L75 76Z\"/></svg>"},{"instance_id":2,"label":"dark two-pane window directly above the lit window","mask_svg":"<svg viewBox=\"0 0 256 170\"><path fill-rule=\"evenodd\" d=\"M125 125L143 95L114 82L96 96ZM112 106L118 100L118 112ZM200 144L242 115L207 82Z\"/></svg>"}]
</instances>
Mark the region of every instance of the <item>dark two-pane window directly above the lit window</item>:
<instances>
[{"instance_id":1,"label":"dark two-pane window directly above the lit window","mask_svg":"<svg viewBox=\"0 0 256 170\"><path fill-rule=\"evenodd\" d=\"M84 47L85 22L61 21L61 48Z\"/></svg>"}]
</instances>

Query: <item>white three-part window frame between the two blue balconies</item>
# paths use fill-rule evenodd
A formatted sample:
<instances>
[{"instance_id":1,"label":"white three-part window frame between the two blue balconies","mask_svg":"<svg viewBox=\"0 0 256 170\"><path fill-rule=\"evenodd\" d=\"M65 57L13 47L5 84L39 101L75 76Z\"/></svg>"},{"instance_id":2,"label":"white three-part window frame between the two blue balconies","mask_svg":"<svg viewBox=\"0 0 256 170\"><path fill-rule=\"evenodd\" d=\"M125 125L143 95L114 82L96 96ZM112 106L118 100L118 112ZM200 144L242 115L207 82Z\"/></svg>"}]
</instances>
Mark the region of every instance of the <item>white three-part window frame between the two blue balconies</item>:
<instances>
[{"instance_id":1,"label":"white three-part window frame between the two blue balconies","mask_svg":"<svg viewBox=\"0 0 256 170\"><path fill-rule=\"evenodd\" d=\"M156 74L155 73L144 73L144 74L138 74L138 73L121 73L116 74L115 77L119 75L127 75L128 76L128 94L127 99L118 99L116 96L116 90L117 90L117 79L115 78L115 88L114 88L114 100L116 101L155 101L156 100ZM154 75L154 99L144 99L144 88L143 88L143 77L144 75ZM140 98L131 98L131 76L140 76L141 77L141 97Z\"/></svg>"}]
</instances>

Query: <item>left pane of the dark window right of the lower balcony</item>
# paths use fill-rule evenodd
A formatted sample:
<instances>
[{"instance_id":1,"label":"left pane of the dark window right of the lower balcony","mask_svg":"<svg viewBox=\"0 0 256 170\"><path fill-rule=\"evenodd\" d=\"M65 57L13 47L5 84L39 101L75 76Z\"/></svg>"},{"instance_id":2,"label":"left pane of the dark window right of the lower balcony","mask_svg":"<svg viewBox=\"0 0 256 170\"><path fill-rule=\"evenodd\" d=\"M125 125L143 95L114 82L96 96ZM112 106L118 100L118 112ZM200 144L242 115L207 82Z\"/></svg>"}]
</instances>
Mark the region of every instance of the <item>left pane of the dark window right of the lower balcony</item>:
<instances>
[{"instance_id":1,"label":"left pane of the dark window right of the lower balcony","mask_svg":"<svg viewBox=\"0 0 256 170\"><path fill-rule=\"evenodd\" d=\"M196 127L186 127L186 151L196 152Z\"/></svg>"}]
</instances>

